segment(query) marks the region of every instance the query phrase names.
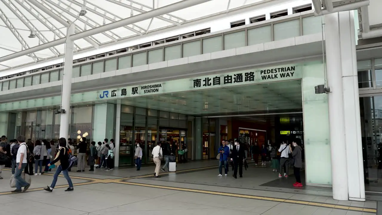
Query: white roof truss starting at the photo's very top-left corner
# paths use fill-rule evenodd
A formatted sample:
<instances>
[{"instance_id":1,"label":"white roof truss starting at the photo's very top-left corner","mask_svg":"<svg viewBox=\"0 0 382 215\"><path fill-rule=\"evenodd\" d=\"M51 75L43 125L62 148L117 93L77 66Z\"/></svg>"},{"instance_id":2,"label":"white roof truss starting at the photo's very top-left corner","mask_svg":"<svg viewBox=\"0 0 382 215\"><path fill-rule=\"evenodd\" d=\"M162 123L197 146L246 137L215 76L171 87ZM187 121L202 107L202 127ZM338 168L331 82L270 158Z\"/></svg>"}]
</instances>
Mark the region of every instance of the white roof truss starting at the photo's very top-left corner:
<instances>
[{"instance_id":1,"label":"white roof truss starting at the photo's very top-left corner","mask_svg":"<svg viewBox=\"0 0 382 215\"><path fill-rule=\"evenodd\" d=\"M19 11L19 9L16 7L15 4L13 4L13 2L11 2L10 0L6 1L6 0L0 0L4 3L4 5L10 10L12 11L13 14L15 14L15 16L30 30L30 31L35 31L35 35L37 38L39 38L39 40L43 43L47 43L49 42L48 39L44 36L44 34L41 34L39 32L39 29L36 28L36 26L34 26L34 24L23 14L21 13L21 11ZM61 53L56 49L56 47L50 47L49 50L56 56L58 57L58 55L60 55Z\"/></svg>"}]
</instances>

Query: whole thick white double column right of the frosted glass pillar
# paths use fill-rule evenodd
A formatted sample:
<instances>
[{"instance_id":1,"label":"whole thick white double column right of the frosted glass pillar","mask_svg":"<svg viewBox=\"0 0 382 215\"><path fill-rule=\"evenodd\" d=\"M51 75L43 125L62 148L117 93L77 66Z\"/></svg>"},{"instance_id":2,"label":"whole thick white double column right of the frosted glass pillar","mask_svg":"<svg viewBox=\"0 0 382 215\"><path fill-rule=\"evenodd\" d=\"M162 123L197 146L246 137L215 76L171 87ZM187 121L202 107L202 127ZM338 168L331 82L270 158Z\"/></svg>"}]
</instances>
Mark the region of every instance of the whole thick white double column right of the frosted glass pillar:
<instances>
[{"instance_id":1,"label":"whole thick white double column right of the frosted glass pillar","mask_svg":"<svg viewBox=\"0 0 382 215\"><path fill-rule=\"evenodd\" d=\"M325 15L333 199L365 200L353 11Z\"/></svg>"}]
</instances>

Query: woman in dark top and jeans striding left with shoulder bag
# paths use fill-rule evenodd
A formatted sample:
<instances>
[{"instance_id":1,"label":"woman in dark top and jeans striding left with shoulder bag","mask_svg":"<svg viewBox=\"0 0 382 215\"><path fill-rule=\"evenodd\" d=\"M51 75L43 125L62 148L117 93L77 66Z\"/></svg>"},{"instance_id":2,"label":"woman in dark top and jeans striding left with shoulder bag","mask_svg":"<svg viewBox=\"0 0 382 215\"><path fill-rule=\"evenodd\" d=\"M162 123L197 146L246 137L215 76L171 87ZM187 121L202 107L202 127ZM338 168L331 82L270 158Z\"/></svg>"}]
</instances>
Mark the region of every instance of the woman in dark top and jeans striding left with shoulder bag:
<instances>
[{"instance_id":1,"label":"woman in dark top and jeans striding left with shoulder bag","mask_svg":"<svg viewBox=\"0 0 382 215\"><path fill-rule=\"evenodd\" d=\"M58 153L55 159L50 164L48 164L48 166L53 164L57 165L56 173L53 176L52 185L50 185L50 187L48 186L47 188L44 188L44 190L48 192L52 192L54 187L56 186L58 175L62 172L62 174L64 175L64 177L66 178L69 184L68 189L66 189L65 191L73 191L74 190L73 183L68 173L69 154L68 154L68 148L66 148L66 139L61 137L58 140L58 145L59 145Z\"/></svg>"}]
</instances>

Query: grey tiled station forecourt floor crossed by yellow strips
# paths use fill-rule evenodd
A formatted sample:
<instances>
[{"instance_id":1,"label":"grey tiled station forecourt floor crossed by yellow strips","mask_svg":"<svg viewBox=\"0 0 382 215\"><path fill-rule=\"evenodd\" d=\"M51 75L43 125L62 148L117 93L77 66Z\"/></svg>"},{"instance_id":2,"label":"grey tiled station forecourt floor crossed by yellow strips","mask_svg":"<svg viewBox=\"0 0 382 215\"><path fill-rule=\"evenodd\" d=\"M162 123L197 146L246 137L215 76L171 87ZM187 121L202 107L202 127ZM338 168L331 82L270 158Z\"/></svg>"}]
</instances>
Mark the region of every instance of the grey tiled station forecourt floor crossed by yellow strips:
<instances>
[{"instance_id":1,"label":"grey tiled station forecourt floor crossed by yellow strips","mask_svg":"<svg viewBox=\"0 0 382 215\"><path fill-rule=\"evenodd\" d=\"M176 173L162 173L153 178L153 166L142 171L116 169L94 173L71 172L73 192L65 192L66 180L58 179L61 188L52 193L42 190L52 175L32 176L31 192L10 194L10 171L0 180L0 210L5 214L29 215L124 215L198 214L225 215L371 215L376 214L373 201L337 201L330 189L314 191L291 187L268 187L277 180L269 168L249 168L244 178L217 178L216 161L189 162L177 165ZM282 181L293 183L293 177Z\"/></svg>"}]
</instances>

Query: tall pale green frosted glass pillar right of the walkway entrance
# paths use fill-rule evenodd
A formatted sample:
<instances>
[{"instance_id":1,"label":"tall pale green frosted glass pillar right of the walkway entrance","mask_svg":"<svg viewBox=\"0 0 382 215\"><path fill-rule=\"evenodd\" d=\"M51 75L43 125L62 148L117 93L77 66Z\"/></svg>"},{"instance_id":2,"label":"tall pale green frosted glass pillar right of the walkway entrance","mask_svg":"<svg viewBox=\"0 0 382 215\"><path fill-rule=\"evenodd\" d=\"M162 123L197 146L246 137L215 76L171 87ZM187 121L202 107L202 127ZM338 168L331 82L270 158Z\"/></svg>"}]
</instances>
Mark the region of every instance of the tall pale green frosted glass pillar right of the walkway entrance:
<instances>
[{"instance_id":1,"label":"tall pale green frosted glass pillar right of the walkway entrance","mask_svg":"<svg viewBox=\"0 0 382 215\"><path fill-rule=\"evenodd\" d=\"M324 65L303 66L303 116L306 182L332 184L329 135L329 105L326 94L315 94L314 86L325 83ZM317 153L320 151L320 153Z\"/></svg>"}]
</instances>

